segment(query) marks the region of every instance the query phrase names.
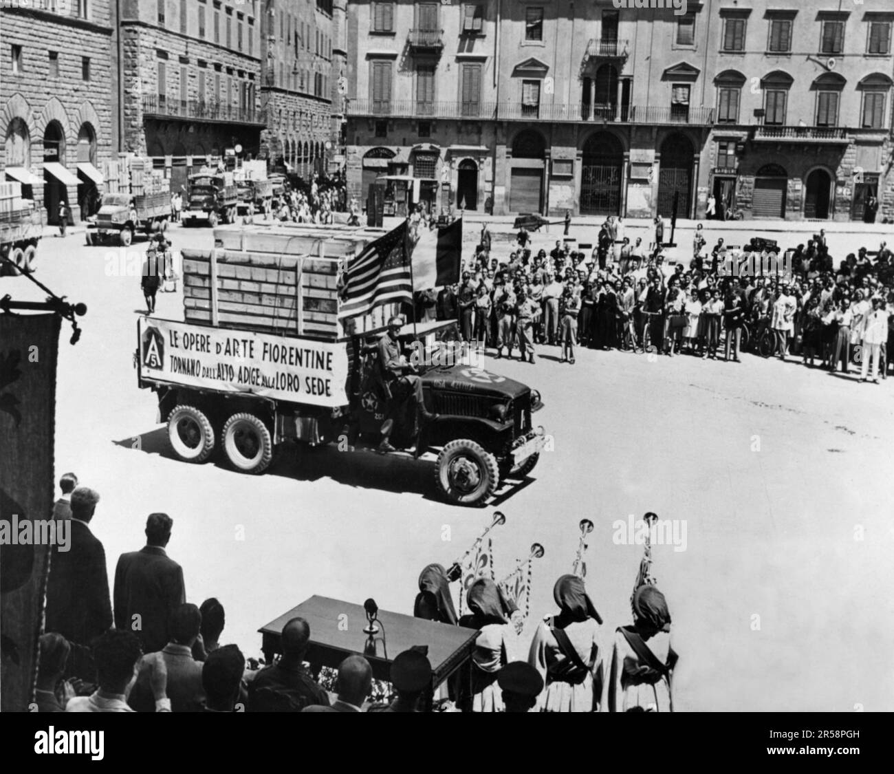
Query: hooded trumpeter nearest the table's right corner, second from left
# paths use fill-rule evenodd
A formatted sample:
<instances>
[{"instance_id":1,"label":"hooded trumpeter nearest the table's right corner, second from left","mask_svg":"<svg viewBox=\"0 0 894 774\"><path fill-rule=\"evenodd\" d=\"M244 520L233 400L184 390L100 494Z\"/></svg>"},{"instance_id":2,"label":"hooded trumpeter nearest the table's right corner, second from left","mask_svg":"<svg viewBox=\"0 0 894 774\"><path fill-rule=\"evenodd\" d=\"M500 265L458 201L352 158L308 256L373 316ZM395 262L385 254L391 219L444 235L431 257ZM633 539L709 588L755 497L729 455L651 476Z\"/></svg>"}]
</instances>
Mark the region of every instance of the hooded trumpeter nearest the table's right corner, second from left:
<instances>
[{"instance_id":1,"label":"hooded trumpeter nearest the table's right corner, second from left","mask_svg":"<svg viewBox=\"0 0 894 774\"><path fill-rule=\"evenodd\" d=\"M460 618L460 626L478 629L475 649L463 670L460 699L464 712L502 712L502 693L497 685L500 669L517 661L515 631L510 625L510 604L490 578L478 578L466 597L471 614Z\"/></svg>"}]
</instances>

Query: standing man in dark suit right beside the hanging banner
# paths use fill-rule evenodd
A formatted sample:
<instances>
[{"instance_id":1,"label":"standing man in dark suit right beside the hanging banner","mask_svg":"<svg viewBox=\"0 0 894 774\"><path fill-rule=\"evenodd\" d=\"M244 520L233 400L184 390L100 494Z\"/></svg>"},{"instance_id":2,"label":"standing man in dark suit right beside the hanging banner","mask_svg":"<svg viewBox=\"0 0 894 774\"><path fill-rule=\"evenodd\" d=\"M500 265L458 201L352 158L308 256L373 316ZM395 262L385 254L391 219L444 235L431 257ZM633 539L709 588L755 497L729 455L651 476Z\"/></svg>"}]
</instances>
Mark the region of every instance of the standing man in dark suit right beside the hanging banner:
<instances>
[{"instance_id":1,"label":"standing man in dark suit right beside the hanging banner","mask_svg":"<svg viewBox=\"0 0 894 774\"><path fill-rule=\"evenodd\" d=\"M72 492L71 540L53 547L46 585L45 630L71 643L67 674L85 680L96 679L89 643L112 625L105 549L89 527L98 502L93 489Z\"/></svg>"}]
</instances>

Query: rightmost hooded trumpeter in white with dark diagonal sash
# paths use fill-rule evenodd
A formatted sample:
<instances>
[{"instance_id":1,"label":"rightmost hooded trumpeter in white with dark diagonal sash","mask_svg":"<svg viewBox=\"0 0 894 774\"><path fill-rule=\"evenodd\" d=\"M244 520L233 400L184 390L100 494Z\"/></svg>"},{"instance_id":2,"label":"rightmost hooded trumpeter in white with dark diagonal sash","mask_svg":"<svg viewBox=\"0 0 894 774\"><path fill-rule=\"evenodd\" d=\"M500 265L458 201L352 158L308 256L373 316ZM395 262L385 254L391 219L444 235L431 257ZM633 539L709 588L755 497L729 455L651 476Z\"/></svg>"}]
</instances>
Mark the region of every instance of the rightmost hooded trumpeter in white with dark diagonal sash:
<instances>
[{"instance_id":1,"label":"rightmost hooded trumpeter in white with dark diagonal sash","mask_svg":"<svg viewBox=\"0 0 894 774\"><path fill-rule=\"evenodd\" d=\"M661 591L640 586L631 603L633 625L615 632L611 651L610 712L672 712L671 614Z\"/></svg>"}]
</instances>

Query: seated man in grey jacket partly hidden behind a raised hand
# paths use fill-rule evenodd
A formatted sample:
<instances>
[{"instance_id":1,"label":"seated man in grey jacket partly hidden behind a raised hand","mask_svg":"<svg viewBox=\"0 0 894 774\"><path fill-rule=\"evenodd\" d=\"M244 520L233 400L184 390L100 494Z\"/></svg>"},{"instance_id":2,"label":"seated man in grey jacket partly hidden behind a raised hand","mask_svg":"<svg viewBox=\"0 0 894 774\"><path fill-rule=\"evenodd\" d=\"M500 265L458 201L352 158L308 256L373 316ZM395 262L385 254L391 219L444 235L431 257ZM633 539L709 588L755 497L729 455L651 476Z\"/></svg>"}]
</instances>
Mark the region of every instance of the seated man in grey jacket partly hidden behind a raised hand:
<instances>
[{"instance_id":1,"label":"seated man in grey jacket partly hidden behind a raised hand","mask_svg":"<svg viewBox=\"0 0 894 774\"><path fill-rule=\"evenodd\" d=\"M202 662L192 658L192 645L198 637L202 614L195 605L178 605L171 614L171 642L161 651L167 671L167 693L172 712L200 712L205 704L202 688ZM135 634L139 634L135 633ZM154 712L151 672L147 659L139 667L136 685L128 703L138 712Z\"/></svg>"}]
</instances>

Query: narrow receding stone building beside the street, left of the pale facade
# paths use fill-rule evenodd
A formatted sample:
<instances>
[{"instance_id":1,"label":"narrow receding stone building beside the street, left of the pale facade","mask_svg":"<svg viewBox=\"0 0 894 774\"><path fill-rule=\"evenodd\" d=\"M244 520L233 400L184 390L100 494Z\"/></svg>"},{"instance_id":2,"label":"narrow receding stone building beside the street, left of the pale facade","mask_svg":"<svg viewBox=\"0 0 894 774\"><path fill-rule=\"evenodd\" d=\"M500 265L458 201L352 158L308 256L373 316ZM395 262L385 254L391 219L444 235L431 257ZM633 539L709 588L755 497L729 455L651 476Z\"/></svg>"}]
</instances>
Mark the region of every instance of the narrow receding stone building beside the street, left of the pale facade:
<instances>
[{"instance_id":1,"label":"narrow receding stone building beside the street, left of the pale facade","mask_svg":"<svg viewBox=\"0 0 894 774\"><path fill-rule=\"evenodd\" d=\"M266 0L261 22L261 104L266 129L261 156L274 168L309 178L326 174L338 126L339 17L345 3L332 0Z\"/></svg>"}]
</instances>

